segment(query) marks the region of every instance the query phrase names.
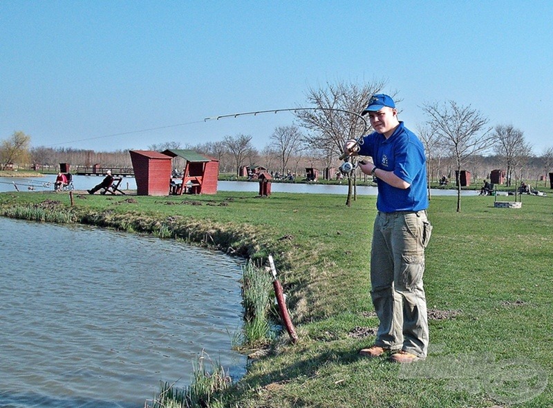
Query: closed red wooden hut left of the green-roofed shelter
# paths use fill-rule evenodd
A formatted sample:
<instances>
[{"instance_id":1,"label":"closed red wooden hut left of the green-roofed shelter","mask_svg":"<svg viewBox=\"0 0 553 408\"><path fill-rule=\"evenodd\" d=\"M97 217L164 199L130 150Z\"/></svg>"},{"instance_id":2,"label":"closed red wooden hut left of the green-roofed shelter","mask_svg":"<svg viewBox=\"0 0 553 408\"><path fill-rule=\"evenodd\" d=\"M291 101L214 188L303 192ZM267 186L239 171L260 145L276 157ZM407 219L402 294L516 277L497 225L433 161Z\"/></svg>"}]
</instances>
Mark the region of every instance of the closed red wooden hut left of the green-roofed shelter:
<instances>
[{"instance_id":1,"label":"closed red wooden hut left of the green-roofed shelter","mask_svg":"<svg viewBox=\"0 0 553 408\"><path fill-rule=\"evenodd\" d=\"M137 195L167 195L171 182L171 157L153 150L129 150Z\"/></svg>"}]
</instances>

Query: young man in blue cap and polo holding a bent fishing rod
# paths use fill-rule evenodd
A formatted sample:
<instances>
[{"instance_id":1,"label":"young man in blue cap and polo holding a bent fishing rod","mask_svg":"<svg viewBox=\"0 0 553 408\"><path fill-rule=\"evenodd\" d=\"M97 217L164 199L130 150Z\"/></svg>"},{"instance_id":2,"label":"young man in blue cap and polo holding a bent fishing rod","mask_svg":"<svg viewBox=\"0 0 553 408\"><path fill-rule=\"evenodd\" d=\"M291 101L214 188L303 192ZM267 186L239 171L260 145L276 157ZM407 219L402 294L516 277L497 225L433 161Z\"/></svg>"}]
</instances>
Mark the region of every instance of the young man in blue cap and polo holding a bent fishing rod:
<instances>
[{"instance_id":1,"label":"young man in blue cap and polo holding a bent fishing rod","mask_svg":"<svg viewBox=\"0 0 553 408\"><path fill-rule=\"evenodd\" d=\"M397 119L391 97L371 97L362 115L374 132L357 144L346 142L344 153L373 157L359 162L363 173L377 180L377 217L371 247L371 297L379 319L373 346L362 356L391 352L393 362L426 358L429 343L427 301L422 285L424 249L432 226L427 218L427 169L418 137Z\"/></svg>"}]
</instances>

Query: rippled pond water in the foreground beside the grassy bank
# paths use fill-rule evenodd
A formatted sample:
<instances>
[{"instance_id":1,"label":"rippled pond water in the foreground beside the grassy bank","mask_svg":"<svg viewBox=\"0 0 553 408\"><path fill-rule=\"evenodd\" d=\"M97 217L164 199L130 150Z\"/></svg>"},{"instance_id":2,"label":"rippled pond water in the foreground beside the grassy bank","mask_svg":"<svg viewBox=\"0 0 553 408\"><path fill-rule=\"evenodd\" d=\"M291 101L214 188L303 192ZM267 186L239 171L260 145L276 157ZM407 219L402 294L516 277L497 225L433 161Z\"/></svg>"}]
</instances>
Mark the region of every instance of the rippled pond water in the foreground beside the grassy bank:
<instances>
[{"instance_id":1,"label":"rippled pond water in the foreground beside the grassy bank","mask_svg":"<svg viewBox=\"0 0 553 408\"><path fill-rule=\"evenodd\" d=\"M0 242L0 407L140 408L202 351L243 375L242 260L1 217Z\"/></svg>"}]
</instances>

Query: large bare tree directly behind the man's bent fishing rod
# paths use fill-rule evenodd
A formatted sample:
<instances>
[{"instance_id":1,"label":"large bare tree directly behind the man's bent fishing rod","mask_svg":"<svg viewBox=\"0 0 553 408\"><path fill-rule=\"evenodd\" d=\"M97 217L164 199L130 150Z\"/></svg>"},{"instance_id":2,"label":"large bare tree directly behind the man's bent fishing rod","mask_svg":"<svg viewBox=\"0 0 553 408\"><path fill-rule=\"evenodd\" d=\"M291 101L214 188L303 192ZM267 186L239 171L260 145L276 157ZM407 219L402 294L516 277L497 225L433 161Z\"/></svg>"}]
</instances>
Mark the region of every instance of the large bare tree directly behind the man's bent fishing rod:
<instances>
[{"instance_id":1,"label":"large bare tree directly behind the man's bent fishing rod","mask_svg":"<svg viewBox=\"0 0 553 408\"><path fill-rule=\"evenodd\" d=\"M373 84L352 84L339 82L327 84L326 88L310 88L307 99L317 110L298 110L296 115L302 126L312 130L306 136L306 143L332 152L339 157L348 139L357 139L368 128L360 119L368 99L384 87L384 81ZM356 115L357 114L357 115ZM346 205L351 205L353 178L348 177Z\"/></svg>"}]
</instances>

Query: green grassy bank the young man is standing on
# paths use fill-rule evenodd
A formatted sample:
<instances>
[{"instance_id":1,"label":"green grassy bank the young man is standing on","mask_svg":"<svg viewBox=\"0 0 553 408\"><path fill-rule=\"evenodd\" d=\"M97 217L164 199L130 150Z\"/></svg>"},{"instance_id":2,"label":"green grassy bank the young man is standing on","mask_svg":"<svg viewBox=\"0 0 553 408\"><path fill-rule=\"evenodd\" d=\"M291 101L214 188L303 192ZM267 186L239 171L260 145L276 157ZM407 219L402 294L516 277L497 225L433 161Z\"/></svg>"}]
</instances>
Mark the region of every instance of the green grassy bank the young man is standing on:
<instances>
[{"instance_id":1,"label":"green grassy bank the young man is standing on","mask_svg":"<svg viewBox=\"0 0 553 408\"><path fill-rule=\"evenodd\" d=\"M377 327L368 281L375 197L348 208L339 195L75 194L70 208L66 193L2 193L0 211L38 220L62 212L51 221L178 237L256 262L272 253L300 342L277 339L217 396L222 406L537 408L553 404L553 194L545 192L523 196L520 209L462 197L462 213L456 197L432 197L431 350L408 368L357 356Z\"/></svg>"}]
</instances>

